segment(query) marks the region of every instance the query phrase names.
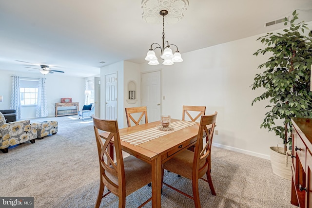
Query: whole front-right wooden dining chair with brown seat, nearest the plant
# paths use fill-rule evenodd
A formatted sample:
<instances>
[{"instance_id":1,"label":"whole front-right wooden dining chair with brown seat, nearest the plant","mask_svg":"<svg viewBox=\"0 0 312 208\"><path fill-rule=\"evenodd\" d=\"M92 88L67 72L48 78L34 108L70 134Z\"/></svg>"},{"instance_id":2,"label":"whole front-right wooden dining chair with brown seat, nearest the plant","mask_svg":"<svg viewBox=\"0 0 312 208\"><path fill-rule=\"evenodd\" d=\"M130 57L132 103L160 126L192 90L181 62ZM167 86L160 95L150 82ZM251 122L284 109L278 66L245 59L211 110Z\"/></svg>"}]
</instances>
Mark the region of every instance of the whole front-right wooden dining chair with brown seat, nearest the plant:
<instances>
[{"instance_id":1,"label":"whole front-right wooden dining chair with brown seat, nearest the plant","mask_svg":"<svg viewBox=\"0 0 312 208\"><path fill-rule=\"evenodd\" d=\"M162 181L164 169L192 180L193 197L170 186L165 182L162 183L167 187L174 189L179 193L182 193L183 195L193 199L195 202L195 208L200 208L200 199L198 192L199 179L208 182L211 193L213 195L216 195L209 169L209 163L211 163L209 155L211 155L211 146L213 142L216 116L217 112L212 115L201 116L197 134L197 141L195 144L195 152L189 150L182 151L181 153L178 153L176 156L165 162L162 166ZM206 133L206 139L203 139L204 132ZM203 140L207 142L203 142ZM203 178L205 174L207 180Z\"/></svg>"}]
</instances>

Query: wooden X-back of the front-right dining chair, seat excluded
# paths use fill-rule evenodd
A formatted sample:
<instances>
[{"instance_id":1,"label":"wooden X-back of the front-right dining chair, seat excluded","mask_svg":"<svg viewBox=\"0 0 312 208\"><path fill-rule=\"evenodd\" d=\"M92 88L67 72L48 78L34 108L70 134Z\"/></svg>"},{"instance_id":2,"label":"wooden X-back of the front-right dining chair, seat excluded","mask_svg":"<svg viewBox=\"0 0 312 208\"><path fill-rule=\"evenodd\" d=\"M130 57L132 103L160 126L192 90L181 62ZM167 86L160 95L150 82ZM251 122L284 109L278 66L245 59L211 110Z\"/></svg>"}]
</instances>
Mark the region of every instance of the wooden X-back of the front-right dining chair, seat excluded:
<instances>
[{"instance_id":1,"label":"wooden X-back of the front-right dining chair, seat excluded","mask_svg":"<svg viewBox=\"0 0 312 208\"><path fill-rule=\"evenodd\" d=\"M193 179L201 178L210 167L210 151L213 143L215 120L217 112L211 115L202 115L200 118L197 142L195 144ZM206 134L206 144L204 146L203 135ZM208 170L210 171L210 170Z\"/></svg>"}]
</instances>

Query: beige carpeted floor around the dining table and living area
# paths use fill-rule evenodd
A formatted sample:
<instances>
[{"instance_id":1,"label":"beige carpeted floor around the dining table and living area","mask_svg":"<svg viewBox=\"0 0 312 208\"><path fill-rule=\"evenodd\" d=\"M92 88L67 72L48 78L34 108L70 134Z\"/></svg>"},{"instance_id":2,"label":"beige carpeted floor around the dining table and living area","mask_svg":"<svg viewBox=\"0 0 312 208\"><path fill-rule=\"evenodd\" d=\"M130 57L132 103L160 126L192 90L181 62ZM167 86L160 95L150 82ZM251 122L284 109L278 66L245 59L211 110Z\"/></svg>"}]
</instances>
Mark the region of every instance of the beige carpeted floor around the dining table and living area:
<instances>
[{"instance_id":1,"label":"beige carpeted floor around the dining table and living area","mask_svg":"<svg viewBox=\"0 0 312 208\"><path fill-rule=\"evenodd\" d=\"M0 196L34 197L35 208L94 207L99 167L92 120L38 120L58 120L59 132L0 152ZM202 208L295 208L291 181L274 175L269 160L213 147L212 179L216 196L199 181ZM192 195L191 181L167 171L164 181ZM151 187L145 186L126 198L126 207L135 208L150 196ZM193 200L165 186L161 203L163 208L194 207ZM118 207L117 197L109 194L101 207Z\"/></svg>"}]
</instances>

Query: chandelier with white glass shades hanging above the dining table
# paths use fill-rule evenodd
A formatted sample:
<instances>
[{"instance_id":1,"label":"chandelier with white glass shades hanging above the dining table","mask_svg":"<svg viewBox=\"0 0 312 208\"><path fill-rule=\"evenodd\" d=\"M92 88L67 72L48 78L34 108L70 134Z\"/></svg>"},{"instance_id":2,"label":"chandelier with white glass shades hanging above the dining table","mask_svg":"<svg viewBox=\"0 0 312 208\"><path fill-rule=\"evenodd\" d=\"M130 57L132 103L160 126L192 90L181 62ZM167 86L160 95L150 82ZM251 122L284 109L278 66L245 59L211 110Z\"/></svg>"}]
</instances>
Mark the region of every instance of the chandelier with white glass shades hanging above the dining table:
<instances>
[{"instance_id":1,"label":"chandelier with white glass shades hanging above the dining table","mask_svg":"<svg viewBox=\"0 0 312 208\"><path fill-rule=\"evenodd\" d=\"M152 43L150 50L147 52L147 55L145 57L145 60L149 61L149 65L158 65L158 59L155 55L155 50L156 48L159 48L161 51L161 58L163 60L162 64L163 65L172 65L177 62L182 62L183 59L181 57L180 52L178 51L178 48L175 44L169 44L168 41L165 41L165 16L168 14L167 10L161 10L159 14L162 16L162 45L159 45L158 43ZM165 44L166 47L165 47ZM156 46L153 49L153 46ZM175 46L176 47L176 52L175 54L172 53L172 50L170 46Z\"/></svg>"}]
</instances>

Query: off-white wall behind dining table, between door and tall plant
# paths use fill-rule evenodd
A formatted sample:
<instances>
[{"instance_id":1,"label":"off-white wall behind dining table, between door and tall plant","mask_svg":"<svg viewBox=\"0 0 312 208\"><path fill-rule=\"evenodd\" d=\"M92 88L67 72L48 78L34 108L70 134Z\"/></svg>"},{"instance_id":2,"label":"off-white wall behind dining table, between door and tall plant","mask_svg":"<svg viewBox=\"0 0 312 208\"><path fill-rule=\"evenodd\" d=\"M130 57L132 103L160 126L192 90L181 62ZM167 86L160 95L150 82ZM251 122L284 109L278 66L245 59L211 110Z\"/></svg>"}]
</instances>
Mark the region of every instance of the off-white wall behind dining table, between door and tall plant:
<instances>
[{"instance_id":1,"label":"off-white wall behind dining table, between door and tall plant","mask_svg":"<svg viewBox=\"0 0 312 208\"><path fill-rule=\"evenodd\" d=\"M268 58L253 56L263 48L256 41L260 36L184 53L184 61L172 66L144 63L141 72L162 68L163 113L181 118L182 105L204 105L206 114L218 112L215 146L269 159L269 147L281 139L260 129L267 103L251 106L263 91L253 91L250 86L255 74L261 72L258 65Z\"/></svg>"}]
</instances>

